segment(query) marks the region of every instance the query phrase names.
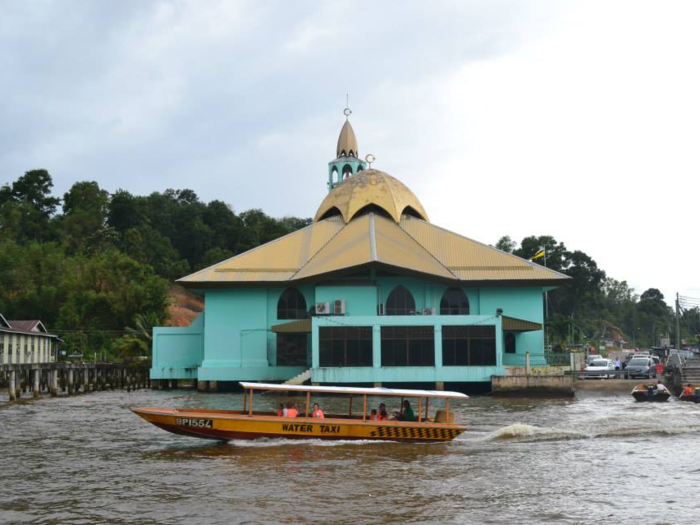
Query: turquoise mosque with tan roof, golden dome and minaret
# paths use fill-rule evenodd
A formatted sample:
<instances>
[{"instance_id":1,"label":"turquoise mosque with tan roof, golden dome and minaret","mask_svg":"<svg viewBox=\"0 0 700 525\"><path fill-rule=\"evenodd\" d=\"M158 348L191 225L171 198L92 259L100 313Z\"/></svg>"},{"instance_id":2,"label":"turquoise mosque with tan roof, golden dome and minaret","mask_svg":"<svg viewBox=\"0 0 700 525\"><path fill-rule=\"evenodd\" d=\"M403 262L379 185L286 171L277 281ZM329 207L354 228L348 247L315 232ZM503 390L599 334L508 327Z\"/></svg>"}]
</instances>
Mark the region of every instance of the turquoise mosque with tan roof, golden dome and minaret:
<instances>
[{"instance_id":1,"label":"turquoise mosque with tan roof, golden dome and minaret","mask_svg":"<svg viewBox=\"0 0 700 525\"><path fill-rule=\"evenodd\" d=\"M543 354L568 277L432 224L345 114L313 223L179 279L204 312L154 328L152 379L459 389Z\"/></svg>"}]
</instances>

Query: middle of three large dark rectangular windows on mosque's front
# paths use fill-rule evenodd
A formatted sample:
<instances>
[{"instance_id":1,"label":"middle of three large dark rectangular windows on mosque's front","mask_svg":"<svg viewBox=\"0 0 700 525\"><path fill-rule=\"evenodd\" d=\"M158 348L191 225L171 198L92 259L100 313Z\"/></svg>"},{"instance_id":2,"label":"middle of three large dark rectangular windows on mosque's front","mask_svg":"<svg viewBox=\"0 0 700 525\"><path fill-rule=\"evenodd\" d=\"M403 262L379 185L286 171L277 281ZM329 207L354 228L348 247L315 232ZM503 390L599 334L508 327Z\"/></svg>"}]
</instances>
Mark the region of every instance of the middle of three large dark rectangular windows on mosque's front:
<instances>
[{"instance_id":1,"label":"middle of three large dark rectangular windows on mosque's front","mask_svg":"<svg viewBox=\"0 0 700 525\"><path fill-rule=\"evenodd\" d=\"M382 326L382 366L435 366L435 329Z\"/></svg>"}]
</instances>

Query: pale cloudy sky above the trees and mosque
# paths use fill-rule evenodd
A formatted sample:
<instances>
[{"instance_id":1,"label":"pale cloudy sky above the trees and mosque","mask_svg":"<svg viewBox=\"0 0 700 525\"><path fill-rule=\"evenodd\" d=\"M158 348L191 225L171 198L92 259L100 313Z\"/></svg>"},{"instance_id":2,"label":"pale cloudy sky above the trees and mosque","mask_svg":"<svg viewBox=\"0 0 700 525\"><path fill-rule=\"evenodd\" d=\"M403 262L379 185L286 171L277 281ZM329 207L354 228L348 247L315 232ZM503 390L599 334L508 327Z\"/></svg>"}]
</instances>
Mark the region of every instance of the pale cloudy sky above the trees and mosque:
<instances>
[{"instance_id":1,"label":"pale cloudy sky above the trees and mosque","mask_svg":"<svg viewBox=\"0 0 700 525\"><path fill-rule=\"evenodd\" d=\"M431 222L700 297L700 3L0 0L0 185L312 217L346 93Z\"/></svg>"}]
</instances>

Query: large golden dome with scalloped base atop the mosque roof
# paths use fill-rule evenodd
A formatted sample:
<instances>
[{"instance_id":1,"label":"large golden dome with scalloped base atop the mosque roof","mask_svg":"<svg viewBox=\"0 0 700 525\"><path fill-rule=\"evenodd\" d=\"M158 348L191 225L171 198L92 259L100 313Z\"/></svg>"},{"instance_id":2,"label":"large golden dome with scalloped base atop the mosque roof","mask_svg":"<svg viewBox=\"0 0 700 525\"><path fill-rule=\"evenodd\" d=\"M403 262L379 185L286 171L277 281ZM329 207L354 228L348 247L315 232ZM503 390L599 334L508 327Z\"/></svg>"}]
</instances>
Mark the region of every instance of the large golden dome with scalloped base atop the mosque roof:
<instances>
[{"instance_id":1,"label":"large golden dome with scalloped base atop the mosque roof","mask_svg":"<svg viewBox=\"0 0 700 525\"><path fill-rule=\"evenodd\" d=\"M363 170L331 191L318 208L314 221L341 215L347 224L358 212L381 209L397 223L407 214L428 221L418 198L402 182L379 170Z\"/></svg>"}]
</instances>

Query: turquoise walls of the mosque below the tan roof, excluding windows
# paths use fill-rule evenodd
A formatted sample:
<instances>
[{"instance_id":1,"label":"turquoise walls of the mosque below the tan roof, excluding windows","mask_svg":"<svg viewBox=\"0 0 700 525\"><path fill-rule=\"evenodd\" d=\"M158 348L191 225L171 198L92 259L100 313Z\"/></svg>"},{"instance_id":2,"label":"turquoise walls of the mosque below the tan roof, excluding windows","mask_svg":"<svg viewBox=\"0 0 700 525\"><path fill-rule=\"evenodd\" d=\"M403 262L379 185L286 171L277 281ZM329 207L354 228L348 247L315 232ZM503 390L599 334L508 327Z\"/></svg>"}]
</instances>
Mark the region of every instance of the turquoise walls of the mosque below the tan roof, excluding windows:
<instances>
[{"instance_id":1,"label":"turquoise walls of the mosque below the tan roof, excluding windows","mask_svg":"<svg viewBox=\"0 0 700 525\"><path fill-rule=\"evenodd\" d=\"M350 281L350 279L346 279ZM501 318L503 315L543 322L542 288L463 288L470 303L468 316L410 315L378 316L377 305L386 300L398 285L408 288L416 302L416 311L435 308L447 286L410 277L378 277L376 286L355 285L299 286L307 307L316 302L344 299L346 314L313 318L310 353L314 382L432 382L490 381L492 374L502 374L504 365L522 365L526 351L542 354L542 331L516 333L517 354L503 353ZM154 379L192 378L199 380L282 381L303 371L303 367L277 367L276 334L271 327L289 322L277 318L277 302L286 287L268 289L204 290L205 312L188 328L155 328L154 358L151 376ZM442 367L441 326L491 324L496 329L497 366ZM318 327L326 325L372 326L375 330L375 365L367 368L320 369L318 364ZM379 366L381 326L435 326L436 367ZM538 364L536 358L533 365ZM197 367L199 368L197 369Z\"/></svg>"}]
</instances>

